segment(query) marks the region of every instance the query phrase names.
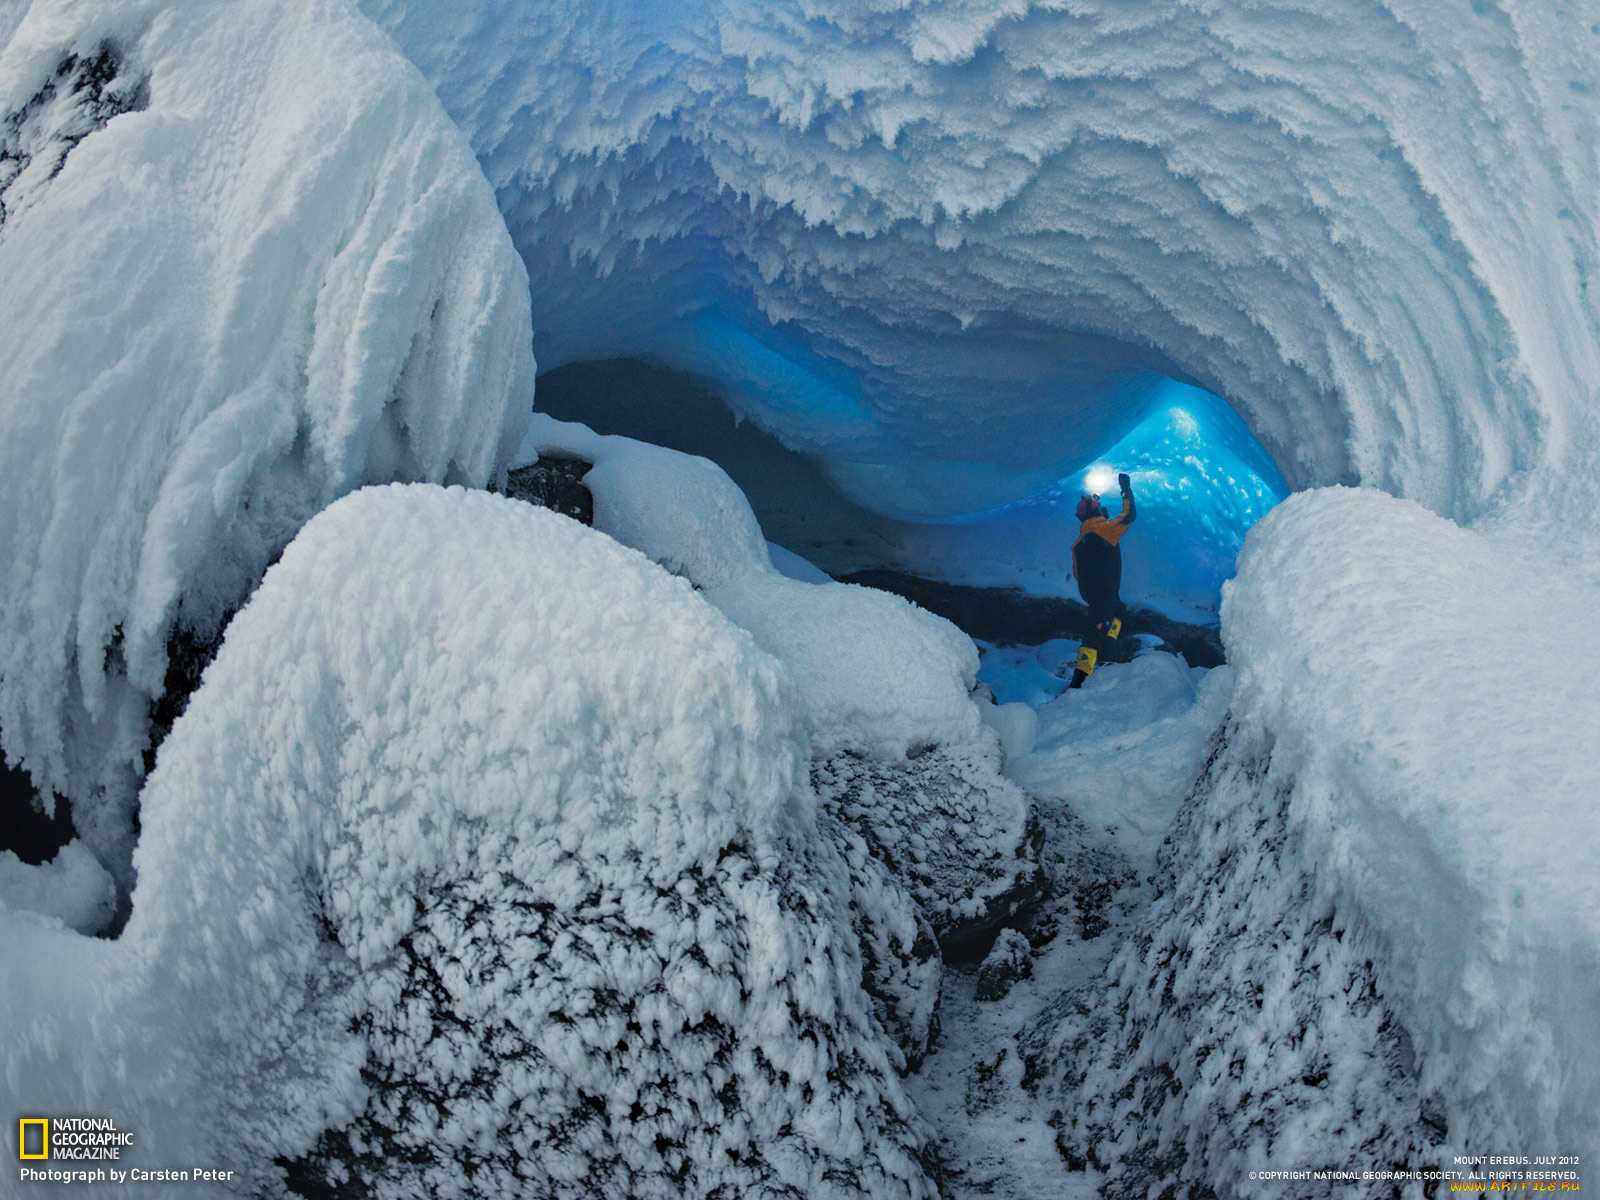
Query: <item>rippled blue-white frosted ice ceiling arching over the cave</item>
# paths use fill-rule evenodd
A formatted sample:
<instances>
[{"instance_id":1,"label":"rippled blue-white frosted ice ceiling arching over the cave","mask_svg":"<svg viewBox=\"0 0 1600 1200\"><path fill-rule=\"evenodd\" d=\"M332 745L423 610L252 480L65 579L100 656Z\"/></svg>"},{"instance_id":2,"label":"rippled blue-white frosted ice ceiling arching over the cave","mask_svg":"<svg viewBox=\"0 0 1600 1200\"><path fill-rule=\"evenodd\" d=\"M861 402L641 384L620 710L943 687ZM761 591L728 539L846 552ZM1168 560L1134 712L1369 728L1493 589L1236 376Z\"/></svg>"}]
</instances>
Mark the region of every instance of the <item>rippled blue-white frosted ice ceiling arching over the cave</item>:
<instances>
[{"instance_id":1,"label":"rippled blue-white frosted ice ceiling arching over the cave","mask_svg":"<svg viewBox=\"0 0 1600 1200\"><path fill-rule=\"evenodd\" d=\"M1037 491L1152 371L1293 486L1458 520L1592 448L1581 6L363 8L496 189L542 370L710 374L877 510Z\"/></svg>"}]
</instances>

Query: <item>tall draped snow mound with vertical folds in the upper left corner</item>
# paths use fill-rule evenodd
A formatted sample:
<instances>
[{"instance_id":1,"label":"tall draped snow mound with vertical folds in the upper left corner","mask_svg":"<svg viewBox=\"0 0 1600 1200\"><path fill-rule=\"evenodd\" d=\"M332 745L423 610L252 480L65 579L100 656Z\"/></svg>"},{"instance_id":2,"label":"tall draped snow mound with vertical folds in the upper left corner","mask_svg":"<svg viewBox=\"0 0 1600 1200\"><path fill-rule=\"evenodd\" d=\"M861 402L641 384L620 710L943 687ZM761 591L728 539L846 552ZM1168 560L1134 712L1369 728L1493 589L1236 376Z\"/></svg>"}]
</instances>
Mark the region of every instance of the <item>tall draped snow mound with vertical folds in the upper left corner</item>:
<instances>
[{"instance_id":1,"label":"tall draped snow mound with vertical folds in the upper left corner","mask_svg":"<svg viewBox=\"0 0 1600 1200\"><path fill-rule=\"evenodd\" d=\"M38 0L0 50L0 726L126 886L174 622L363 482L475 482L526 270L430 88L330 0Z\"/></svg>"}]
</instances>

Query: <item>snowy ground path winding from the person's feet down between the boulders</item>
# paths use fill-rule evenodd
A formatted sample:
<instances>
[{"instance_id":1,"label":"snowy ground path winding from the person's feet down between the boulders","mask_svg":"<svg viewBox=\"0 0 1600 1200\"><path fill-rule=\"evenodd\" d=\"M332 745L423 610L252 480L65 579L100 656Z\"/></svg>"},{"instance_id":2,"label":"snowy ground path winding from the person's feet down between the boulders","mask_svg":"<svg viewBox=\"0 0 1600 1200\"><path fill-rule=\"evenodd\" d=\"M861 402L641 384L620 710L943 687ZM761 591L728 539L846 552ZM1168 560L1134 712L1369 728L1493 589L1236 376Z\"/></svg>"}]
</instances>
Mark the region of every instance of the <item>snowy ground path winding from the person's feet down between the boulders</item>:
<instances>
[{"instance_id":1,"label":"snowy ground path winding from the person's feet down between the boulders","mask_svg":"<svg viewBox=\"0 0 1600 1200\"><path fill-rule=\"evenodd\" d=\"M1230 669L1190 669L1158 651L1102 667L1077 693L1062 691L1066 682L1042 664L1064 661L1070 675L1069 648L1077 646L986 650L979 678L990 680L1002 699L1019 686L1054 693L1035 701L1037 733L1010 747L1016 754L1006 773L1040 802L1046 829L1062 806L1075 806L1107 846L1130 859L1133 875L1106 907L1099 933L1085 938L1062 925L1035 947L1032 976L1003 998L974 997L976 966L947 970L939 1002L946 1032L909 1083L938 1133L952 1200L1101 1195L1098 1173L1067 1170L1050 1106L1034 1093L1034 1080L1024 1085L1024 1038L1062 994L1096 986L1150 902L1155 850L1200 776L1232 691ZM1011 714L1013 723L1018 715Z\"/></svg>"}]
</instances>

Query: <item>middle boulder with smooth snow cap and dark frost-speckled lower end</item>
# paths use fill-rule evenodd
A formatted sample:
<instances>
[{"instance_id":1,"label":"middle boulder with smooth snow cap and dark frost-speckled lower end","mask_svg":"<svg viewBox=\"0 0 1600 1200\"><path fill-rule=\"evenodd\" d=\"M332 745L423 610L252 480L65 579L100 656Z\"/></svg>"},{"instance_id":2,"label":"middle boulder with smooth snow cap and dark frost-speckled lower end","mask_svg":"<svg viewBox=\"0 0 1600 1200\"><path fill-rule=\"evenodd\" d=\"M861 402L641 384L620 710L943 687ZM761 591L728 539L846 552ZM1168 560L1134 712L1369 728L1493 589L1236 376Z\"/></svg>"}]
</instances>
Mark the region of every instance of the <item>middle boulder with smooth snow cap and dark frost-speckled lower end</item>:
<instances>
[{"instance_id":1,"label":"middle boulder with smooth snow cap and dark frost-speckled lower end","mask_svg":"<svg viewBox=\"0 0 1600 1200\"><path fill-rule=\"evenodd\" d=\"M707 459L536 416L518 459L552 453L594 464L595 528L686 578L784 664L826 810L912 891L946 954L981 957L1042 875L1027 795L971 698L971 638L888 592L779 571Z\"/></svg>"}]
</instances>

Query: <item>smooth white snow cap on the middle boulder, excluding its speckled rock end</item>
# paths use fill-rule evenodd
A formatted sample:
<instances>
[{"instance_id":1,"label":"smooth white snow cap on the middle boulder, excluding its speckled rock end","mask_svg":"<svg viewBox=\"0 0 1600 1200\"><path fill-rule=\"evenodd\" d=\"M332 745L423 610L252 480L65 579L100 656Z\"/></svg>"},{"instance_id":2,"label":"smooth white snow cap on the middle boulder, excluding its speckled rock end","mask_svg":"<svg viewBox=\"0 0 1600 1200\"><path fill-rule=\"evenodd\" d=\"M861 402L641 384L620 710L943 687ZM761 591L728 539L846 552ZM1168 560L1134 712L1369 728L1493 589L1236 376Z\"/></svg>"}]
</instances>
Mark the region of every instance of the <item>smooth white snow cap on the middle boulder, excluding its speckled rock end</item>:
<instances>
[{"instance_id":1,"label":"smooth white snow cap on the middle boulder, excluding its speckled rock end","mask_svg":"<svg viewBox=\"0 0 1600 1200\"><path fill-rule=\"evenodd\" d=\"M888 592L781 573L744 493L717 464L538 414L517 459L550 453L594 464L582 482L597 530L686 578L784 664L818 755L902 757L987 739L968 698L971 640Z\"/></svg>"}]
</instances>

